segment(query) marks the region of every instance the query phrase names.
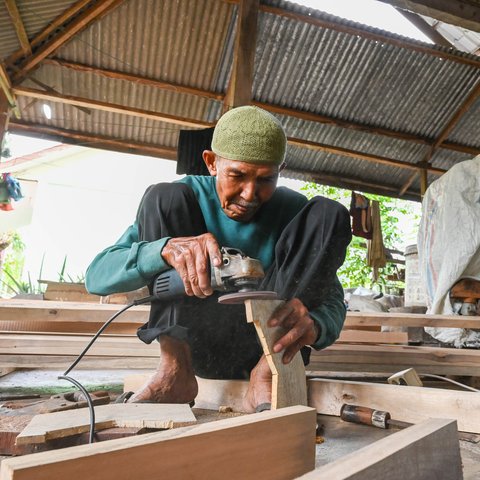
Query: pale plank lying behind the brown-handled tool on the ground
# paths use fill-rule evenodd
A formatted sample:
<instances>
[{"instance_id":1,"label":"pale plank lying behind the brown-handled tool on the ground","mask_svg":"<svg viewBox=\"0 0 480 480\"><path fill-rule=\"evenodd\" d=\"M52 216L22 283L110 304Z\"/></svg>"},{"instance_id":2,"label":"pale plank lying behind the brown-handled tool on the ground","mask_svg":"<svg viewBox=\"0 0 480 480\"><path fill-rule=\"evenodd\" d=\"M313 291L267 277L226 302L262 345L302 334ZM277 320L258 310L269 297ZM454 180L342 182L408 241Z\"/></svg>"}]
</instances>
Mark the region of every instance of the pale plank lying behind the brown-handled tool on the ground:
<instances>
[{"instance_id":1,"label":"pale plank lying behind the brown-handled tool on the ground","mask_svg":"<svg viewBox=\"0 0 480 480\"><path fill-rule=\"evenodd\" d=\"M477 392L321 378L309 380L308 388L308 403L321 414L339 416L342 405L350 403L387 411L402 422L454 418L460 431L480 433Z\"/></svg>"}]
</instances>

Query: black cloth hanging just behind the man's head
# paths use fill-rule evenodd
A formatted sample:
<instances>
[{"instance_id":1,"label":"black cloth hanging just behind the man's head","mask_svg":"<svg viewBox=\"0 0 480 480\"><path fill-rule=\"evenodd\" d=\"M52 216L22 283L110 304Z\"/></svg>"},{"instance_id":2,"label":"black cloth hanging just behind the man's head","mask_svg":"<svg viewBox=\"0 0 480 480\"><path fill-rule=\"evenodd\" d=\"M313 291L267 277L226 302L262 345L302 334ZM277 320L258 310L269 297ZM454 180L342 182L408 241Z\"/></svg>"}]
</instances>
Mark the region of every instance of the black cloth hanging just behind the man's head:
<instances>
[{"instance_id":1,"label":"black cloth hanging just behind the man's head","mask_svg":"<svg viewBox=\"0 0 480 480\"><path fill-rule=\"evenodd\" d=\"M178 137L177 174L210 175L202 158L204 150L211 150L214 128L180 130Z\"/></svg>"}]
</instances>

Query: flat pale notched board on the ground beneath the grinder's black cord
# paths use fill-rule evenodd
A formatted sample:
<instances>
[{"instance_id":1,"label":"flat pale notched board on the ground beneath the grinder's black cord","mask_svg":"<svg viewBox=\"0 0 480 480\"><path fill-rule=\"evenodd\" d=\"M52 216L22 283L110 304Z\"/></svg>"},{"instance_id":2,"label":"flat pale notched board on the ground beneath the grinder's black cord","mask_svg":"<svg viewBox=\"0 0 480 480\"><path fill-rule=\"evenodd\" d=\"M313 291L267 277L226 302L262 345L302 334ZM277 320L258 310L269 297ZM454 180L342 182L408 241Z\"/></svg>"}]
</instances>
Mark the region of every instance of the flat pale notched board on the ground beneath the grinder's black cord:
<instances>
[{"instance_id":1,"label":"flat pale notched board on the ground beneath the grinder's black cord","mask_svg":"<svg viewBox=\"0 0 480 480\"><path fill-rule=\"evenodd\" d=\"M95 429L138 427L166 429L193 425L196 418L188 404L122 403L95 407ZM88 408L35 415L17 436L17 445L45 443L90 430Z\"/></svg>"}]
</instances>

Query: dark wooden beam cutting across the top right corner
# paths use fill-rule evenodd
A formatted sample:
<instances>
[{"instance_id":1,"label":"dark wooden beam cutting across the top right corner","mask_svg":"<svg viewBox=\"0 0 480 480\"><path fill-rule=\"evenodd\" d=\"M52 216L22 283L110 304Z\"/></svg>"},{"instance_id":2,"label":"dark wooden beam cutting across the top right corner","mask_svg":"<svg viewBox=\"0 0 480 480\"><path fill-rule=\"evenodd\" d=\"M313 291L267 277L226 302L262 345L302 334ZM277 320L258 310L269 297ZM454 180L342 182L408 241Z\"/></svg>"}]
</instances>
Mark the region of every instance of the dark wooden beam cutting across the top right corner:
<instances>
[{"instance_id":1,"label":"dark wooden beam cutting across the top right corner","mask_svg":"<svg viewBox=\"0 0 480 480\"><path fill-rule=\"evenodd\" d=\"M473 0L380 0L404 10L480 32L480 4Z\"/></svg>"}]
</instances>

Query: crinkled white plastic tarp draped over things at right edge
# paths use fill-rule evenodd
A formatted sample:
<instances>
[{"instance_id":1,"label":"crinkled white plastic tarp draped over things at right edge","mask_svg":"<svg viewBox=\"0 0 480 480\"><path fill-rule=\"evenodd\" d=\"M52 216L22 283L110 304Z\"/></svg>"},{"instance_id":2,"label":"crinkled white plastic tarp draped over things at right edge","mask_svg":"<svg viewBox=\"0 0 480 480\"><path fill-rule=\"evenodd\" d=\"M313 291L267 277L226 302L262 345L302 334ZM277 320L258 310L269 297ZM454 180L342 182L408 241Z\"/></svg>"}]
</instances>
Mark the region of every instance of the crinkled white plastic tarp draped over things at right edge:
<instances>
[{"instance_id":1,"label":"crinkled white plastic tarp draped over things at right edge","mask_svg":"<svg viewBox=\"0 0 480 480\"><path fill-rule=\"evenodd\" d=\"M449 291L462 278L480 280L480 155L452 167L427 189L418 232L427 313L453 314ZM480 332L426 328L456 347L480 347Z\"/></svg>"}]
</instances>

